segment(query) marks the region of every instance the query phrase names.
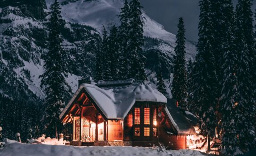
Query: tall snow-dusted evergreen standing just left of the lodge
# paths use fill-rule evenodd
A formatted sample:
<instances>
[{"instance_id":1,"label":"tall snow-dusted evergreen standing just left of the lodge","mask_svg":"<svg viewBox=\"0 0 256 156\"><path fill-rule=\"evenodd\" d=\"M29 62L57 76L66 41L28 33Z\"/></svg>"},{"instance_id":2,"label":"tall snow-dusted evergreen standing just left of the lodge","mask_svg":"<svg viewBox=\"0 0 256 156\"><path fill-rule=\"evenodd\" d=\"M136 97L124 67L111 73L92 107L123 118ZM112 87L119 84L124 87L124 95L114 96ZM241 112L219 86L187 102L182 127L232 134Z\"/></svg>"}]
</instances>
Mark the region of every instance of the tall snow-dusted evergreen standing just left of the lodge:
<instances>
[{"instance_id":1,"label":"tall snow-dusted evergreen standing just left of the lodge","mask_svg":"<svg viewBox=\"0 0 256 156\"><path fill-rule=\"evenodd\" d=\"M44 57L45 72L40 76L42 78L41 87L46 94L42 121L45 123L44 129L47 134L57 138L61 128L59 115L61 108L64 108L64 97L67 97L71 91L64 77L67 75L67 64L64 61L67 55L61 45L62 17L57 0L50 6L50 10L49 51Z\"/></svg>"}]
</instances>

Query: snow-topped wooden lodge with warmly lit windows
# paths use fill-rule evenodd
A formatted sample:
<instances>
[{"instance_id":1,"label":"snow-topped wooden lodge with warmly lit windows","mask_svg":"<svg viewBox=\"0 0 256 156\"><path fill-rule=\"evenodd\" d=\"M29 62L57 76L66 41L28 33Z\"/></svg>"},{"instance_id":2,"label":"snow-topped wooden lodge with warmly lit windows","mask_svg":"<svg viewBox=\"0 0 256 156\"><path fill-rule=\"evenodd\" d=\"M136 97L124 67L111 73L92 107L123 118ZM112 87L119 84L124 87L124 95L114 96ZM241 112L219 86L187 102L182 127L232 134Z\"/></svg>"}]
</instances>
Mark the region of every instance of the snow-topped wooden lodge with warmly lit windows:
<instances>
[{"instance_id":1,"label":"snow-topped wooden lodge with warmly lit windows","mask_svg":"<svg viewBox=\"0 0 256 156\"><path fill-rule=\"evenodd\" d=\"M186 136L195 135L195 129L172 108L158 90L133 79L88 82L80 85L60 120L73 124L71 145L187 148Z\"/></svg>"}]
</instances>

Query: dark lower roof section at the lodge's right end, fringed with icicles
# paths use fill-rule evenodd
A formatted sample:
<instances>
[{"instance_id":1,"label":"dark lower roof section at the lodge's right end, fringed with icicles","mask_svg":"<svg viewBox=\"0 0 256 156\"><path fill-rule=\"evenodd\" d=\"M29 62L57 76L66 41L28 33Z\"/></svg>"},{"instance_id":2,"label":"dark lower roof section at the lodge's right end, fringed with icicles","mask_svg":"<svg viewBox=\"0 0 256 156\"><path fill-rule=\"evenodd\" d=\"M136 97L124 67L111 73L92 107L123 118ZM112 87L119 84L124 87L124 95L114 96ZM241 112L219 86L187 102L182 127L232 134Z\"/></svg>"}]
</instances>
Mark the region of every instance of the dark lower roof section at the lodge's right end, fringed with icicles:
<instances>
[{"instance_id":1,"label":"dark lower roof section at the lodge's right end, fringed with icicles","mask_svg":"<svg viewBox=\"0 0 256 156\"><path fill-rule=\"evenodd\" d=\"M198 119L189 111L185 111L180 107L176 107L176 100L168 99L167 107L165 107L166 114L170 119L173 127L178 134L182 135L195 135L196 130L194 126L197 124Z\"/></svg>"}]
</instances>

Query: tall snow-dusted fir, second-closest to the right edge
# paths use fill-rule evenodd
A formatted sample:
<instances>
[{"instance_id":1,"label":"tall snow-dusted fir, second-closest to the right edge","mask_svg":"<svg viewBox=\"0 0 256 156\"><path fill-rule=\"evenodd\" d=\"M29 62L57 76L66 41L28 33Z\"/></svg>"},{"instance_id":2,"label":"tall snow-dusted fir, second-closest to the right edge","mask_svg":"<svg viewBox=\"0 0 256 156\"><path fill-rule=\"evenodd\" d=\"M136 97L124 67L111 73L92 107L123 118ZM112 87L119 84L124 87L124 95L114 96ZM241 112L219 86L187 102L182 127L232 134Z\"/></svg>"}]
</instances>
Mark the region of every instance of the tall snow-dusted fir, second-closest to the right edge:
<instances>
[{"instance_id":1,"label":"tall snow-dusted fir, second-closest to the right edge","mask_svg":"<svg viewBox=\"0 0 256 156\"><path fill-rule=\"evenodd\" d=\"M219 5L221 10L218 21L222 21L222 43L219 43L219 63L221 89L220 112L222 114L222 154L233 156L239 150L239 140L237 138L238 125L235 118L235 107L239 100L237 92L237 66L238 53L235 51L234 30L235 16L231 0L223 0ZM216 42L215 42L216 43ZM222 56L222 57L221 57ZM217 57L216 57L217 59Z\"/></svg>"}]
</instances>

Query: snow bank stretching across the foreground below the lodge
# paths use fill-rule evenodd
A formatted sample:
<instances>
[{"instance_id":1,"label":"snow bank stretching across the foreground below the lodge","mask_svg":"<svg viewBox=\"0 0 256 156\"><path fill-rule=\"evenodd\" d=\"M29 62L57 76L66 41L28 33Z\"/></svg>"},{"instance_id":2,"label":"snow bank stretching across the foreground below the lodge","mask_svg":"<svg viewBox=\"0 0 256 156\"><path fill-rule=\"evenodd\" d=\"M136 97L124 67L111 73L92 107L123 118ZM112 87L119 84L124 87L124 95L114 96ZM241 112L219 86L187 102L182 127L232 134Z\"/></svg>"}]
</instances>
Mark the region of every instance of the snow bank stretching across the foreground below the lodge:
<instances>
[{"instance_id":1,"label":"snow bank stretching across the foreground below the lodge","mask_svg":"<svg viewBox=\"0 0 256 156\"><path fill-rule=\"evenodd\" d=\"M152 148L120 146L56 146L45 144L7 144L0 149L0 156L205 156L193 150L166 150L158 152Z\"/></svg>"}]
</instances>

